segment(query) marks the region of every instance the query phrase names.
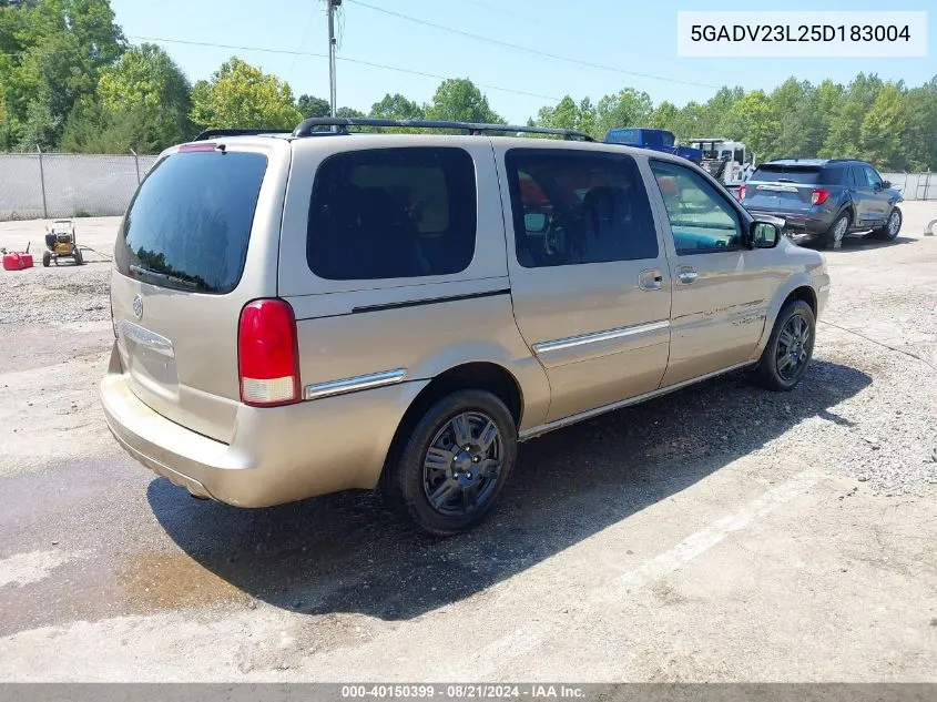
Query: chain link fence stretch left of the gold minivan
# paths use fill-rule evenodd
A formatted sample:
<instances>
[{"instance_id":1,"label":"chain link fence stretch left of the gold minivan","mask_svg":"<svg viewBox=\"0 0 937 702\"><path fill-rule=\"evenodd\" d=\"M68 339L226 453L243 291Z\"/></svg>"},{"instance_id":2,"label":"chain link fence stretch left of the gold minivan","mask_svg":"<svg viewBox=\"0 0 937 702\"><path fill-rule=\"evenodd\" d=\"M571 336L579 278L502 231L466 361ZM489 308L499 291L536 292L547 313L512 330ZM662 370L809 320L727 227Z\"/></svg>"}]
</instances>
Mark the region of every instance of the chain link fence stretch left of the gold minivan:
<instances>
[{"instance_id":1,"label":"chain link fence stretch left of the gold minivan","mask_svg":"<svg viewBox=\"0 0 937 702\"><path fill-rule=\"evenodd\" d=\"M0 221L122 215L156 156L0 154Z\"/></svg>"}]
</instances>

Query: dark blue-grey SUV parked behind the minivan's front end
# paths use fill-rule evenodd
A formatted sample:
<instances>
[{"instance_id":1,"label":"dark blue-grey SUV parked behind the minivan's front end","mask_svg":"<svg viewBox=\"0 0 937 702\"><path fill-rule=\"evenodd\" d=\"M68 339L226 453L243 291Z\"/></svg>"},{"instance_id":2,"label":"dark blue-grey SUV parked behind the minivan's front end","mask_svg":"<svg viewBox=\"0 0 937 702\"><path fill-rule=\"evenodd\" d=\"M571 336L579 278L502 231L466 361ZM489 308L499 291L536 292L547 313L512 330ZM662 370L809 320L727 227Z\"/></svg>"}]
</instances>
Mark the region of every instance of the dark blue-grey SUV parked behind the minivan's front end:
<instances>
[{"instance_id":1,"label":"dark blue-grey SUV parked behind the minivan's front end","mask_svg":"<svg viewBox=\"0 0 937 702\"><path fill-rule=\"evenodd\" d=\"M786 221L785 230L838 248L846 232L872 230L893 240L902 230L902 194L870 164L852 159L778 159L761 164L739 190L752 214Z\"/></svg>"}]
</instances>

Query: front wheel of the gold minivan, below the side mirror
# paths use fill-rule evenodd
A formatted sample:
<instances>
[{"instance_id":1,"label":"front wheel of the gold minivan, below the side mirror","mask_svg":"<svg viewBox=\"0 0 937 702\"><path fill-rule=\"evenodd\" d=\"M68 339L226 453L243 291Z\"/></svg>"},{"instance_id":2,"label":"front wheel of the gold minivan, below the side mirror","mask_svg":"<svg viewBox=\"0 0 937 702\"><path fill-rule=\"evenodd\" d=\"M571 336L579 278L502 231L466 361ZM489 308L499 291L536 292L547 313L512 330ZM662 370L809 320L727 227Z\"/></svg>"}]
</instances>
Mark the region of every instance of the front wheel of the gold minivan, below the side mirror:
<instances>
[{"instance_id":1,"label":"front wheel of the gold minivan, below the side mirror","mask_svg":"<svg viewBox=\"0 0 937 702\"><path fill-rule=\"evenodd\" d=\"M813 357L816 317L803 299L791 299L781 308L774 328L752 369L752 380L768 390L793 390Z\"/></svg>"}]
</instances>

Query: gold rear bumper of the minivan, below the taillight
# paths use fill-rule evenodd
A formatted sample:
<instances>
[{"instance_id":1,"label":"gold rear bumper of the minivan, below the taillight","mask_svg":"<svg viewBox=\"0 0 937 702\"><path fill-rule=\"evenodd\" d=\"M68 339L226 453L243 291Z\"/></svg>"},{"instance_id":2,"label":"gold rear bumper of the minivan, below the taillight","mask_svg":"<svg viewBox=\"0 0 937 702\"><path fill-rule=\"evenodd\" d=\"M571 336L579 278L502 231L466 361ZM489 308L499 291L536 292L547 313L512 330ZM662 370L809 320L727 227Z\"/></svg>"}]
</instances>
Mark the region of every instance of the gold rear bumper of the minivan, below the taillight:
<instances>
[{"instance_id":1,"label":"gold rear bumper of the minivan, below the taillight","mask_svg":"<svg viewBox=\"0 0 937 702\"><path fill-rule=\"evenodd\" d=\"M268 507L376 487L400 419L427 383L400 383L283 407L240 405L234 439L224 444L141 401L115 348L101 381L101 405L118 442L156 475L198 497Z\"/></svg>"}]
</instances>

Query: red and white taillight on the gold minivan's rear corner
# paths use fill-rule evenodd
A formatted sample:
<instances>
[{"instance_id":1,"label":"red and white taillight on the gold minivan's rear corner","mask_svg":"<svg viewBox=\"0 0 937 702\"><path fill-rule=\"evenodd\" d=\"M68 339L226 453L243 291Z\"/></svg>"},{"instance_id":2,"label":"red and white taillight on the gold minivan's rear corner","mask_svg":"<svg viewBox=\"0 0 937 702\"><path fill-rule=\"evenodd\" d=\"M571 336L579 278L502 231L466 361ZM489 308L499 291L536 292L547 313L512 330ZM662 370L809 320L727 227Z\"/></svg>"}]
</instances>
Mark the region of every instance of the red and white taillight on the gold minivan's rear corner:
<instances>
[{"instance_id":1,"label":"red and white taillight on the gold minivan's rear corner","mask_svg":"<svg viewBox=\"0 0 937 702\"><path fill-rule=\"evenodd\" d=\"M241 401L255 407L299 400L296 317L283 299L258 299L241 311L237 328Z\"/></svg>"}]
</instances>

